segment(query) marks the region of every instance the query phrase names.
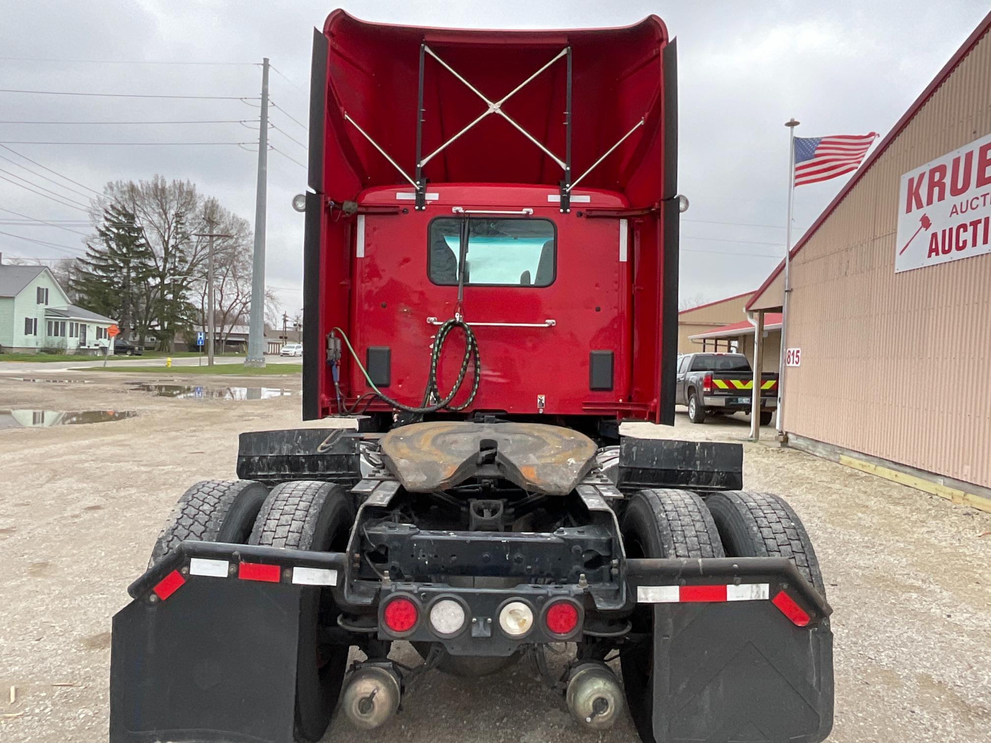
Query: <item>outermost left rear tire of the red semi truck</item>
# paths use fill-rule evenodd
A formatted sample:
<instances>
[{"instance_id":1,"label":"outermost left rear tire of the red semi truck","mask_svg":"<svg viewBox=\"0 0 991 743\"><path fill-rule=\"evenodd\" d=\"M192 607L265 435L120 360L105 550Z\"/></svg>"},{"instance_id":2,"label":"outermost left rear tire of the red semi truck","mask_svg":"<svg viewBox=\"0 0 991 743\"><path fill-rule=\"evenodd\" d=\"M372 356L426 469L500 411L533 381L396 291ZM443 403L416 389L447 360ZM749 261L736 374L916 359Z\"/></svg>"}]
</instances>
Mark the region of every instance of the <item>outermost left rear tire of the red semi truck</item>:
<instances>
[{"instance_id":1,"label":"outermost left rear tire of the red semi truck","mask_svg":"<svg viewBox=\"0 0 991 743\"><path fill-rule=\"evenodd\" d=\"M246 544L268 494L266 486L253 479L197 482L172 507L149 567L187 539Z\"/></svg>"}]
</instances>

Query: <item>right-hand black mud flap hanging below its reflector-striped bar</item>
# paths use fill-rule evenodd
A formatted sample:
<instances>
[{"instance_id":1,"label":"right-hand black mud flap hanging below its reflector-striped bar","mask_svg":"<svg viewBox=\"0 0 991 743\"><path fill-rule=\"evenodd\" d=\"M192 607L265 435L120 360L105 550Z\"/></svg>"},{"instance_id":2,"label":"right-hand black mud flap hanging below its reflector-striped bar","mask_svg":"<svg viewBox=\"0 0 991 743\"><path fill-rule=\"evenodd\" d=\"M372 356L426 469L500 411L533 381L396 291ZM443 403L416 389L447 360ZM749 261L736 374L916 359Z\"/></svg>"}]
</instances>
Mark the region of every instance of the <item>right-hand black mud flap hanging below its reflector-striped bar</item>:
<instances>
[{"instance_id":1,"label":"right-hand black mud flap hanging below its reflector-striped bar","mask_svg":"<svg viewBox=\"0 0 991 743\"><path fill-rule=\"evenodd\" d=\"M682 572L672 582L685 586L684 592L707 590L700 586L718 583L719 574L730 590L766 581L765 600L695 597L654 604L656 743L819 743L828 736L833 711L830 609L791 566L761 571L763 576L753 570L771 560L695 561L693 567L708 574L705 578ZM707 570L715 564L744 570ZM782 590L792 605L807 612L799 621L808 624L797 625L771 600Z\"/></svg>"}]
</instances>

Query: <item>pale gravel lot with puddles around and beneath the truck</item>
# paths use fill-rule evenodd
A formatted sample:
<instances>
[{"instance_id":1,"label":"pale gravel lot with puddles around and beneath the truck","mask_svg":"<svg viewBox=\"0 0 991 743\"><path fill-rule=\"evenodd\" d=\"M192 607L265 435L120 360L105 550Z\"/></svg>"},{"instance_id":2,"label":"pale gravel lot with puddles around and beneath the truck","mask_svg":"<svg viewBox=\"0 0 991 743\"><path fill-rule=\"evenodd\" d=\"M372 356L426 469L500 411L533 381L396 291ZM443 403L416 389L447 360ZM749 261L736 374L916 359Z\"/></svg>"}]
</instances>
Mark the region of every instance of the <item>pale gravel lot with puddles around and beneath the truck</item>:
<instances>
[{"instance_id":1,"label":"pale gravel lot with puddles around and beneath the truck","mask_svg":"<svg viewBox=\"0 0 991 743\"><path fill-rule=\"evenodd\" d=\"M168 399L130 391L127 382L137 375L58 376L91 381L47 384L0 376L0 408L139 415L0 430L4 743L106 740L110 618L126 603L127 584L147 565L172 503L198 479L235 477L242 431L299 424L297 395ZM299 388L297 378L278 376L194 383ZM748 430L742 418L693 426L683 413L674 430L631 428L728 441ZM823 566L835 611L836 716L829 740L988 740L991 514L787 449L746 444L744 463L748 488L789 499ZM394 655L416 661L408 646ZM13 704L11 686L17 688ZM429 674L405 707L372 734L337 722L326 740L538 743L580 735L563 700L526 665L480 681ZM636 737L623 722L581 739Z\"/></svg>"}]
</instances>

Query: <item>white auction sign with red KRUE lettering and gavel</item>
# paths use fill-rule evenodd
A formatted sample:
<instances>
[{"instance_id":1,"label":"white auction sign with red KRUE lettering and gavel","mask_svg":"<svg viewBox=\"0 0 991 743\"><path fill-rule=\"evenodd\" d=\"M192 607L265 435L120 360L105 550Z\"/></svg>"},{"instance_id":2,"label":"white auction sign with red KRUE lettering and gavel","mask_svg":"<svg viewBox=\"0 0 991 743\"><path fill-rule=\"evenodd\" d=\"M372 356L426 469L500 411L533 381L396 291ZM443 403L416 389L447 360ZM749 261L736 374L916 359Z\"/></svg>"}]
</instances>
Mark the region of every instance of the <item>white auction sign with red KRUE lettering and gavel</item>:
<instances>
[{"instance_id":1,"label":"white auction sign with red KRUE lettering and gavel","mask_svg":"<svg viewBox=\"0 0 991 743\"><path fill-rule=\"evenodd\" d=\"M991 135L902 176L895 272L991 254Z\"/></svg>"}]
</instances>

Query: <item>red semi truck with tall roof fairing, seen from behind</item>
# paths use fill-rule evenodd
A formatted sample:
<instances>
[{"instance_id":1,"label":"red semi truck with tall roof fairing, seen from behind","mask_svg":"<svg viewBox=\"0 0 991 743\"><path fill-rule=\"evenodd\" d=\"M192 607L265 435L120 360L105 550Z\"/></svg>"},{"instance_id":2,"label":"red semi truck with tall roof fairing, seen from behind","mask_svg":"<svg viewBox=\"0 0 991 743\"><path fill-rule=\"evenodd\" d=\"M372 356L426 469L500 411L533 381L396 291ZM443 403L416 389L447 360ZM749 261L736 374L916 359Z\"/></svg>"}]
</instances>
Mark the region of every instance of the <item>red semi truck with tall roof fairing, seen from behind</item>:
<instances>
[{"instance_id":1,"label":"red semi truck with tall roof fairing, seen from behind","mask_svg":"<svg viewBox=\"0 0 991 743\"><path fill-rule=\"evenodd\" d=\"M328 426L243 434L240 479L179 499L114 618L113 743L316 741L524 656L589 730L826 738L794 511L742 489L738 445L619 435L673 423L676 83L653 16L315 32L303 417Z\"/></svg>"}]
</instances>

